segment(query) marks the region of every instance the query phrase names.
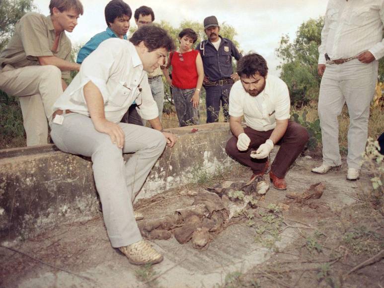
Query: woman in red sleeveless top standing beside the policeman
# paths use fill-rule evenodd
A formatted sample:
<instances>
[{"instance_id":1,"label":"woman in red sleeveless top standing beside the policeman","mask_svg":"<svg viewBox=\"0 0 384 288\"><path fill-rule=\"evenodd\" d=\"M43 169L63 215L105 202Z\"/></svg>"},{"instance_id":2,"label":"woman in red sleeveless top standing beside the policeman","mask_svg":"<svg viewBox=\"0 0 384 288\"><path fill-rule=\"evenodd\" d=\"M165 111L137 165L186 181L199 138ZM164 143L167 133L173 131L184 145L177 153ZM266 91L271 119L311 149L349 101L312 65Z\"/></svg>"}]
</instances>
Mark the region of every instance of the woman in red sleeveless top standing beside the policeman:
<instances>
[{"instance_id":1,"label":"woman in red sleeveless top standing beside the policeman","mask_svg":"<svg viewBox=\"0 0 384 288\"><path fill-rule=\"evenodd\" d=\"M168 66L163 69L166 80L172 88L177 118L180 127L199 123L200 90L203 85L204 69L200 53L192 49L197 34L192 29L179 33L180 47L169 54ZM172 79L168 68L172 66Z\"/></svg>"}]
</instances>

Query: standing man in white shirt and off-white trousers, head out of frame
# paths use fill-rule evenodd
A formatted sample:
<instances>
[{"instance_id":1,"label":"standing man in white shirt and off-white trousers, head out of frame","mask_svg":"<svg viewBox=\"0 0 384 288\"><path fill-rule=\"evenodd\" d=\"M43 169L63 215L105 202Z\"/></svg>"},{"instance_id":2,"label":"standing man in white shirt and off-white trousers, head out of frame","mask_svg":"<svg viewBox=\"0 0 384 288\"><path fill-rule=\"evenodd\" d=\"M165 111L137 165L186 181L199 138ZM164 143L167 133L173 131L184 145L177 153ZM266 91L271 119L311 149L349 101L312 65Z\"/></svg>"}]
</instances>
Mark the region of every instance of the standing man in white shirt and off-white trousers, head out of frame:
<instances>
[{"instance_id":1,"label":"standing man in white shirt and off-white trousers, head out of frame","mask_svg":"<svg viewBox=\"0 0 384 288\"><path fill-rule=\"evenodd\" d=\"M338 120L344 103L350 116L347 180L360 175L368 137L370 103L384 56L384 0L329 0L319 46L318 101L323 163L312 172L325 174L341 164Z\"/></svg>"}]
</instances>

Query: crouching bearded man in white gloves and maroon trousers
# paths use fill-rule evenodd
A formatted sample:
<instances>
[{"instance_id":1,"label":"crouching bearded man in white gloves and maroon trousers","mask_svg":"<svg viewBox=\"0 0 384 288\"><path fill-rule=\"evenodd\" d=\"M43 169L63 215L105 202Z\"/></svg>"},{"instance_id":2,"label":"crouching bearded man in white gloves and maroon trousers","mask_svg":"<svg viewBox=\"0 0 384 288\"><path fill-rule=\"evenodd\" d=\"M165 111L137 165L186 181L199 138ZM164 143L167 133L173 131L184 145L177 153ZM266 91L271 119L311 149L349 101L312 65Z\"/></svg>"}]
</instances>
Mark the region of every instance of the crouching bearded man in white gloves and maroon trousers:
<instances>
[{"instance_id":1,"label":"crouching bearded man in white gloves and maroon trousers","mask_svg":"<svg viewBox=\"0 0 384 288\"><path fill-rule=\"evenodd\" d=\"M251 180L257 177L259 194L269 189L264 172L273 146L279 144L280 149L269 177L275 189L285 190L285 174L308 141L307 130L289 121L287 85L267 73L267 63L258 54L249 54L239 60L237 74L241 81L234 83L230 90L230 130L234 136L226 146L231 157L252 169ZM245 128L241 125L242 116Z\"/></svg>"}]
</instances>

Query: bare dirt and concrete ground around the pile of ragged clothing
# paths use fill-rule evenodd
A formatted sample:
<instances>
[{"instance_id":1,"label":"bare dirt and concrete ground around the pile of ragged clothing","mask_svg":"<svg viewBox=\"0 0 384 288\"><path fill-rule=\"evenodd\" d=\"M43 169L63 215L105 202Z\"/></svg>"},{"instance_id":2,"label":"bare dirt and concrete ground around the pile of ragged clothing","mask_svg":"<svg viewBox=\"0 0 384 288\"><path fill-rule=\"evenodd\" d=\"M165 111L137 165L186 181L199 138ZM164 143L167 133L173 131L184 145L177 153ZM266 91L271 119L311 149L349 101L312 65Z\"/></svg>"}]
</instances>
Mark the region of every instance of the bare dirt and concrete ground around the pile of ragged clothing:
<instances>
[{"instance_id":1,"label":"bare dirt and concrete ground around the pile of ragged clothing","mask_svg":"<svg viewBox=\"0 0 384 288\"><path fill-rule=\"evenodd\" d=\"M371 173L363 170L355 182L345 180L346 165L327 175L310 173L319 163L298 160L287 174L287 191L271 187L261 200L272 205L232 218L206 250L174 237L151 240L164 261L133 266L110 246L100 213L87 222L60 224L11 250L0 247L0 287L383 288L383 204L368 199ZM213 177L202 173L198 183L141 200L135 209L157 219L193 203L180 191L250 176L237 165ZM297 203L285 197L317 182L325 185L320 199Z\"/></svg>"}]
</instances>

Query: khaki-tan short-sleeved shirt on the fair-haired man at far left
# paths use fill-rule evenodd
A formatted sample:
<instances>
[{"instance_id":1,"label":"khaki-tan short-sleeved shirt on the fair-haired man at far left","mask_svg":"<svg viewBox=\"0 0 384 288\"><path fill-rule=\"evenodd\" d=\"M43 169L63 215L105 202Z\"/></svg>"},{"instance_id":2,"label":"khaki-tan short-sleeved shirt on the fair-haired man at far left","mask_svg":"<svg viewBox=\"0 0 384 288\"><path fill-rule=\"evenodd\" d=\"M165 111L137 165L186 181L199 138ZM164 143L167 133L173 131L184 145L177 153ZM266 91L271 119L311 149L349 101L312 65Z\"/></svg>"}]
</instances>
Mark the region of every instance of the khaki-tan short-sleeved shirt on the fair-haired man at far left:
<instances>
[{"instance_id":1,"label":"khaki-tan short-sleeved shirt on the fair-haired man at far left","mask_svg":"<svg viewBox=\"0 0 384 288\"><path fill-rule=\"evenodd\" d=\"M0 54L0 70L5 65L14 68L40 65L38 57L56 56L71 61L72 45L63 31L60 34L57 51L52 51L55 42L55 28L51 16L28 12L17 21L15 32L7 47ZM70 71L62 71L63 78L70 77Z\"/></svg>"}]
</instances>

